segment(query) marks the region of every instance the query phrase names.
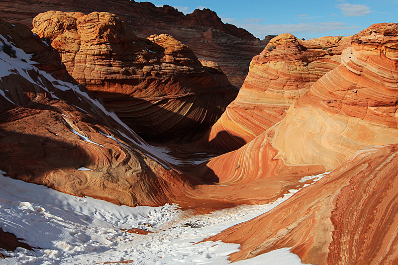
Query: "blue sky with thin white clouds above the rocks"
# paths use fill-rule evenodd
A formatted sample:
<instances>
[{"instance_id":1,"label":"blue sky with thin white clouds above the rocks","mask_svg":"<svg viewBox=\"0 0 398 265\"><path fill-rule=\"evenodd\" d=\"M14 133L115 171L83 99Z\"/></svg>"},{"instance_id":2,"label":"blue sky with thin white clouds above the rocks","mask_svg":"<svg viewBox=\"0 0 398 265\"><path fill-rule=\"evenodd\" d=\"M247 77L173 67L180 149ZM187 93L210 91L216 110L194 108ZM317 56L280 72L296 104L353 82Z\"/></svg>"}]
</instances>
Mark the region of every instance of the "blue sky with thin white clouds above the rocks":
<instances>
[{"instance_id":1,"label":"blue sky with thin white clouds above the rocks","mask_svg":"<svg viewBox=\"0 0 398 265\"><path fill-rule=\"evenodd\" d=\"M299 38L352 35L373 23L398 22L398 0L151 0L184 13L209 8L224 23L254 36L290 32Z\"/></svg>"}]
</instances>

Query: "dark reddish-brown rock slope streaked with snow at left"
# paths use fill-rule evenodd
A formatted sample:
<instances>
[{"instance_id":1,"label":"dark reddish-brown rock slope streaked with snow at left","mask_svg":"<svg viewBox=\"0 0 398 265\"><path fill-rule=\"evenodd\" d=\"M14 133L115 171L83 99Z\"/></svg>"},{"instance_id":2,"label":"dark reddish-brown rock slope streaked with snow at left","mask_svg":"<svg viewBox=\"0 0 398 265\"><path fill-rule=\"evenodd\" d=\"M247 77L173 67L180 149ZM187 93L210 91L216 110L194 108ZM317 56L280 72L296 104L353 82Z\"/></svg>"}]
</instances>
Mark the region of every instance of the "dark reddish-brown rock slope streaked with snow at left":
<instances>
[{"instance_id":1,"label":"dark reddish-brown rock slope streaked with snow at left","mask_svg":"<svg viewBox=\"0 0 398 265\"><path fill-rule=\"evenodd\" d=\"M0 20L0 169L116 204L162 205L189 188L151 146L68 75L26 26ZM180 191L179 191L180 190ZM175 193L177 192L177 193Z\"/></svg>"}]
</instances>

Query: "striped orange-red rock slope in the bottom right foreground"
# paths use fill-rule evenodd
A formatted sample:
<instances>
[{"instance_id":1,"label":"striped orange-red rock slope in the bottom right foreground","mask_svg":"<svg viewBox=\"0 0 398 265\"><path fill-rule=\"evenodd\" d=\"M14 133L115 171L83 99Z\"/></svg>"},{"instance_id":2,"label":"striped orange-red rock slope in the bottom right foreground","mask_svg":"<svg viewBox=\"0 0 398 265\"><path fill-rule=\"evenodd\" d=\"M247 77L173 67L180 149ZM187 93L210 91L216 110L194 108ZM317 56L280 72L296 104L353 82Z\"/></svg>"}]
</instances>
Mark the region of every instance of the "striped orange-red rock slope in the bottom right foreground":
<instances>
[{"instance_id":1,"label":"striped orange-red rock slope in the bottom right foreground","mask_svg":"<svg viewBox=\"0 0 398 265\"><path fill-rule=\"evenodd\" d=\"M398 145L368 149L283 204L206 240L241 244L231 261L289 247L314 265L398 262Z\"/></svg>"}]
</instances>

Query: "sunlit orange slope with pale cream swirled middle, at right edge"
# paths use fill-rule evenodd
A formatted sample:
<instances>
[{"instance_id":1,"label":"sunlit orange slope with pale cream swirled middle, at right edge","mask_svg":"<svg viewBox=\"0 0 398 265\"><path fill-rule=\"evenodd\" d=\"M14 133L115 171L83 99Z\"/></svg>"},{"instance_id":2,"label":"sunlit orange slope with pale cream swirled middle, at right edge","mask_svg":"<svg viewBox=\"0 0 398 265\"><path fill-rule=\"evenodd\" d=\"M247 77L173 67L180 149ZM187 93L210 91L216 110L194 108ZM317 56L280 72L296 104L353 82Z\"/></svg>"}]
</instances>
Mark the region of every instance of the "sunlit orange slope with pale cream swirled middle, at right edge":
<instances>
[{"instance_id":1,"label":"sunlit orange slope with pale cream swirled middle, at right edge","mask_svg":"<svg viewBox=\"0 0 398 265\"><path fill-rule=\"evenodd\" d=\"M341 64L295 101L281 122L209 160L202 176L246 182L276 176L285 166L330 171L358 150L398 143L394 32L396 23L382 23L354 35Z\"/></svg>"}]
</instances>

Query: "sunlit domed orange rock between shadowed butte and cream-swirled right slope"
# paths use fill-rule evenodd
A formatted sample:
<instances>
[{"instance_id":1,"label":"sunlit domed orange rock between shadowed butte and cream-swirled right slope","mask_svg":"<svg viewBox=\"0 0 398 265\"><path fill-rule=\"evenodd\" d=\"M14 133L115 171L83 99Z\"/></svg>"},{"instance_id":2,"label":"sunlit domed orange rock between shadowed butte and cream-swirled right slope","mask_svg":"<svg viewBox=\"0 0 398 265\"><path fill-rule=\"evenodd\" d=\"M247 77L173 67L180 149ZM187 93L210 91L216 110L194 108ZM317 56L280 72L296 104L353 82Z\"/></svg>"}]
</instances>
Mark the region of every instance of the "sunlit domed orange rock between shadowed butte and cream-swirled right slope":
<instances>
[{"instance_id":1,"label":"sunlit domed orange rock between shadowed butte and cream-swirled right slope","mask_svg":"<svg viewBox=\"0 0 398 265\"><path fill-rule=\"evenodd\" d=\"M331 36L302 41L290 33L271 39L251 61L236 99L198 147L218 153L236 150L281 121L290 105L340 64L348 41Z\"/></svg>"}]
</instances>

